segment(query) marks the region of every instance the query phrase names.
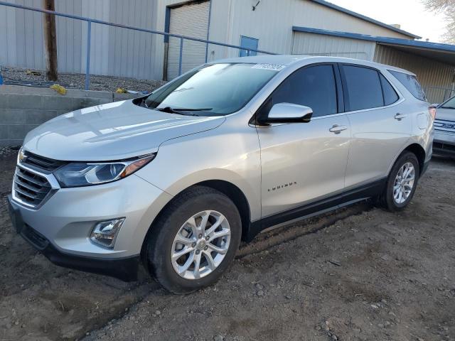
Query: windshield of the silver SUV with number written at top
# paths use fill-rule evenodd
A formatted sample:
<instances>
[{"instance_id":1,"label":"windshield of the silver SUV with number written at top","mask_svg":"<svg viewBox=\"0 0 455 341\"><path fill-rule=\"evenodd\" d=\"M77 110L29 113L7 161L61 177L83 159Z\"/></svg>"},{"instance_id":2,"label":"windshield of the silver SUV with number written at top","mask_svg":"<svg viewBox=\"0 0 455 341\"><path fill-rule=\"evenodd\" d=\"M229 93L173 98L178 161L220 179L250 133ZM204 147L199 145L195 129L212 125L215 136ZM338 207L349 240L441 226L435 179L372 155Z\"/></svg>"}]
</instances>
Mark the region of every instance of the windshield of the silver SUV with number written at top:
<instances>
[{"instance_id":1,"label":"windshield of the silver SUV with number written at top","mask_svg":"<svg viewBox=\"0 0 455 341\"><path fill-rule=\"evenodd\" d=\"M232 114L250 102L279 70L247 63L205 65L152 92L145 104L167 112L180 110L180 114Z\"/></svg>"}]
</instances>

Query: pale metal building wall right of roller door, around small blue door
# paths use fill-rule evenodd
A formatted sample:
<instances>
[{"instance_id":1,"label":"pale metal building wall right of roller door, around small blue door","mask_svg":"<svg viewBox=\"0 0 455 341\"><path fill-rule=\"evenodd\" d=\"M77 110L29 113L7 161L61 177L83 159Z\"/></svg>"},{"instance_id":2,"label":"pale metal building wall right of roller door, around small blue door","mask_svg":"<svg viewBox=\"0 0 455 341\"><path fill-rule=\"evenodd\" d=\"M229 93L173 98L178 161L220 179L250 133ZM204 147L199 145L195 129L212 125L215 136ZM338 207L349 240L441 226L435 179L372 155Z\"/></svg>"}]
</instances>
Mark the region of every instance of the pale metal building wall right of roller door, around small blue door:
<instances>
[{"instance_id":1,"label":"pale metal building wall right of roller door, around small blue door","mask_svg":"<svg viewBox=\"0 0 455 341\"><path fill-rule=\"evenodd\" d=\"M257 2L257 1L255 1ZM210 40L240 44L240 36L259 39L259 49L291 53L292 26L410 38L359 18L306 0L262 0L255 11L252 1L213 0ZM236 49L209 46L210 60L238 55Z\"/></svg>"}]
</instances>

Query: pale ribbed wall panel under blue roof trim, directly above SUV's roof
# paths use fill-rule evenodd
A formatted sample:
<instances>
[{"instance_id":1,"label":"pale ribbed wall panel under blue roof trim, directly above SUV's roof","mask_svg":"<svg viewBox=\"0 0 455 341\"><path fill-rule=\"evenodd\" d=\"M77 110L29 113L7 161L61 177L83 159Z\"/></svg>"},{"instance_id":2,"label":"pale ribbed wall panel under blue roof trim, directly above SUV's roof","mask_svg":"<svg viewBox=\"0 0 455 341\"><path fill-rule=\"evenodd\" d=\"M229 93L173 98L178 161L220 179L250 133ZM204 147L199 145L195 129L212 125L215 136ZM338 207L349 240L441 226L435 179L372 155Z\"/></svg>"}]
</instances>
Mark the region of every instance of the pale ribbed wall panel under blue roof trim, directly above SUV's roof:
<instances>
[{"instance_id":1,"label":"pale ribbed wall panel under blue roof trim, directly above SUV's roof","mask_svg":"<svg viewBox=\"0 0 455 341\"><path fill-rule=\"evenodd\" d=\"M375 45L372 41L294 32L292 53L373 60Z\"/></svg>"}]
</instances>

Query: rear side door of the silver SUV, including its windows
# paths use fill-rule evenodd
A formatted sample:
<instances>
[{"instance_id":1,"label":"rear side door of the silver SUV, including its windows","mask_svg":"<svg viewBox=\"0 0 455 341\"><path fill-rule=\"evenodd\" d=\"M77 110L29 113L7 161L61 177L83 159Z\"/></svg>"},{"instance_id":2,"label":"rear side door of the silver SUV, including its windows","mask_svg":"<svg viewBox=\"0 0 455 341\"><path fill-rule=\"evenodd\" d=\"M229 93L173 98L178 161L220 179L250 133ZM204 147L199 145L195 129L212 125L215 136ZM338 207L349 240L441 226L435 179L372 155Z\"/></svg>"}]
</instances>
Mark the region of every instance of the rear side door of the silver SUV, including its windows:
<instances>
[{"instance_id":1,"label":"rear side door of the silver SUV, including its windows","mask_svg":"<svg viewBox=\"0 0 455 341\"><path fill-rule=\"evenodd\" d=\"M340 65L346 112L352 129L346 188L387 176L409 141L412 117L400 111L399 92L378 70Z\"/></svg>"}]
</instances>

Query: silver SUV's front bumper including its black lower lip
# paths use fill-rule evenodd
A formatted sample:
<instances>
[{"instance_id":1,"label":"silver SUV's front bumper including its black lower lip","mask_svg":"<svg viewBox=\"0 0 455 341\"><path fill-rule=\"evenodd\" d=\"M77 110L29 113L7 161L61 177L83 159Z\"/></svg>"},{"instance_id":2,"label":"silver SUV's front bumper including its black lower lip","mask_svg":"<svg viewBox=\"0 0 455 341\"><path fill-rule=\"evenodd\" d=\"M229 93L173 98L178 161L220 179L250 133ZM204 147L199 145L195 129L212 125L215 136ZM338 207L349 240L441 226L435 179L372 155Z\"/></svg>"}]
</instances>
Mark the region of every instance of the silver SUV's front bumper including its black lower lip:
<instances>
[{"instance_id":1,"label":"silver SUV's front bumper including its black lower lip","mask_svg":"<svg viewBox=\"0 0 455 341\"><path fill-rule=\"evenodd\" d=\"M113 183L60 188L33 210L9 196L16 232L60 266L134 280L151 222L171 195L130 175ZM113 249L90 240L97 222L125 217Z\"/></svg>"}]
</instances>

